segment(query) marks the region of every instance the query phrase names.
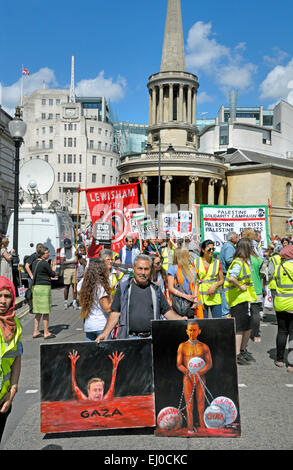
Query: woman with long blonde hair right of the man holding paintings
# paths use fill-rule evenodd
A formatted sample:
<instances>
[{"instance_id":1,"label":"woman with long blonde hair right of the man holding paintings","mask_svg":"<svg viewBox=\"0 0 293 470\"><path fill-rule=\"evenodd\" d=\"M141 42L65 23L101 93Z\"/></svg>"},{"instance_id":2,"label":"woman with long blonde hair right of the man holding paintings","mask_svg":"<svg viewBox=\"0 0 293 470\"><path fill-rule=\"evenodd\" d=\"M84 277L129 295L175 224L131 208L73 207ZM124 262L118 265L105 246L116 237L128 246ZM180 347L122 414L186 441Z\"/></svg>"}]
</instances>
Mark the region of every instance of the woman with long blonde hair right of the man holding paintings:
<instances>
[{"instance_id":1,"label":"woman with long blonde hair right of the man holding paintings","mask_svg":"<svg viewBox=\"0 0 293 470\"><path fill-rule=\"evenodd\" d=\"M176 248L174 251L173 265L168 269L168 289L171 299L175 295L190 302L189 318L196 316L198 300L196 270L191 266L189 251L185 248Z\"/></svg>"}]
</instances>

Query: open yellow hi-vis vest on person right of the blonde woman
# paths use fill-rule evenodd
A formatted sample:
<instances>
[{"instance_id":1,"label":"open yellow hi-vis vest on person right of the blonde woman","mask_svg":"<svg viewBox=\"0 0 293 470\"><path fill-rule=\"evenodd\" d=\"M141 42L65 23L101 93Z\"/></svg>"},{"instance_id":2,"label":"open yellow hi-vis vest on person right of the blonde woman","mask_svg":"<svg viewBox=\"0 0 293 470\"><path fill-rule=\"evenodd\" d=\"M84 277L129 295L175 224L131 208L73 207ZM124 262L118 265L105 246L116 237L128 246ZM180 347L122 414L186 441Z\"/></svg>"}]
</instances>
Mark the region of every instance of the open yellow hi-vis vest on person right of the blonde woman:
<instances>
[{"instance_id":1,"label":"open yellow hi-vis vest on person right of the blonde woman","mask_svg":"<svg viewBox=\"0 0 293 470\"><path fill-rule=\"evenodd\" d=\"M218 282L219 267L220 261L218 259L212 258L209 265L208 272L206 272L203 259L199 257L198 261L199 266L197 266L196 259L194 260L194 266L197 270L197 278L199 283L199 292L201 295L202 302L205 305L219 305L221 303L221 293L220 288L213 295L207 295L209 288Z\"/></svg>"}]
</instances>

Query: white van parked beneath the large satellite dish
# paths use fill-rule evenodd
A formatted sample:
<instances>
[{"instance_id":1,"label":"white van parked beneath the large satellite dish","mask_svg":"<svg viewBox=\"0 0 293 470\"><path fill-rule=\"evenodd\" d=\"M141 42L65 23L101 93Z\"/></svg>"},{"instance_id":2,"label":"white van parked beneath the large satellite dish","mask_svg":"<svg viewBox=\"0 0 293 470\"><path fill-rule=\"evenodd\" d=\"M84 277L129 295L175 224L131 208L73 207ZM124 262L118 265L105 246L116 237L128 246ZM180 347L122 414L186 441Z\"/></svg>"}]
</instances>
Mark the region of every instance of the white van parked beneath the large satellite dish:
<instances>
[{"instance_id":1,"label":"white van parked beneath the large satellite dish","mask_svg":"<svg viewBox=\"0 0 293 470\"><path fill-rule=\"evenodd\" d=\"M7 237L9 249L13 245L13 212L10 216ZM60 273L60 250L63 241L69 238L75 243L74 225L70 215L61 210L19 209L18 216L18 255L23 265L25 256L34 253L37 243L43 243L50 250L50 259L56 262L56 272ZM21 270L23 280L28 278L25 270Z\"/></svg>"}]
</instances>

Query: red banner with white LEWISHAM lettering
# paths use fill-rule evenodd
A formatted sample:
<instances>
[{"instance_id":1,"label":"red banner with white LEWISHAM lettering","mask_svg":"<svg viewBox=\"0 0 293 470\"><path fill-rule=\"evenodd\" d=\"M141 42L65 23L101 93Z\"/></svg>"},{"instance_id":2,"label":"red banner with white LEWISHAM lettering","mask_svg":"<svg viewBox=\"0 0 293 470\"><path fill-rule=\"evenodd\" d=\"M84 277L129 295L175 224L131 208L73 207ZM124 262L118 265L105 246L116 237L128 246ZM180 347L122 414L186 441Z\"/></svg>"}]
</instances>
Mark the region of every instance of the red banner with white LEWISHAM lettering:
<instances>
[{"instance_id":1,"label":"red banner with white LEWISHAM lettering","mask_svg":"<svg viewBox=\"0 0 293 470\"><path fill-rule=\"evenodd\" d=\"M112 223L112 250L117 253L125 245L126 235L131 232L129 209L138 207L138 184L85 190L93 226L95 222Z\"/></svg>"}]
</instances>

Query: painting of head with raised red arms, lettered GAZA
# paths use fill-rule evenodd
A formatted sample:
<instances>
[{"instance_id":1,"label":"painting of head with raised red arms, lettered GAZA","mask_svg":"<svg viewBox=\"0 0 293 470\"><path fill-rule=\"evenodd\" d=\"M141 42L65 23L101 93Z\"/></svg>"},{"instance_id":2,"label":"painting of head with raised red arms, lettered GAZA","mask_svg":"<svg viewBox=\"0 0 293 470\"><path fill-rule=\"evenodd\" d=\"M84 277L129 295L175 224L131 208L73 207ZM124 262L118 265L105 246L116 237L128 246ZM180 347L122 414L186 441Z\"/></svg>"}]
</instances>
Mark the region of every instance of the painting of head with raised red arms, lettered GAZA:
<instances>
[{"instance_id":1,"label":"painting of head with raised red arms, lettered GAZA","mask_svg":"<svg viewBox=\"0 0 293 470\"><path fill-rule=\"evenodd\" d=\"M153 426L151 339L41 345L41 432Z\"/></svg>"}]
</instances>

